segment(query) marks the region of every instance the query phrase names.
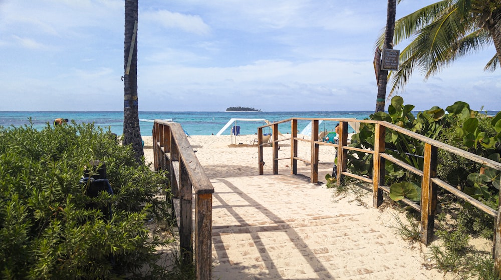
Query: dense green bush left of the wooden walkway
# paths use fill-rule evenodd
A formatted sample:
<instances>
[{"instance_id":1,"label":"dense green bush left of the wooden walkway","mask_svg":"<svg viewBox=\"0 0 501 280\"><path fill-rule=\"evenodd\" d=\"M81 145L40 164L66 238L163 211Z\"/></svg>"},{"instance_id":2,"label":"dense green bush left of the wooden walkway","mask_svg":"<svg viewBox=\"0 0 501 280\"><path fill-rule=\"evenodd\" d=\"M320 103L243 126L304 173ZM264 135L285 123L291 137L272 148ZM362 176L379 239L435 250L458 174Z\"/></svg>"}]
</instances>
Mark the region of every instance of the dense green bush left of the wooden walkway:
<instances>
[{"instance_id":1,"label":"dense green bush left of the wooden walkway","mask_svg":"<svg viewBox=\"0 0 501 280\"><path fill-rule=\"evenodd\" d=\"M0 127L0 276L6 279L144 277L161 271L145 220L166 216L164 176L93 124ZM113 194L85 195L86 165L106 163ZM111 205L110 220L98 206Z\"/></svg>"}]
</instances>

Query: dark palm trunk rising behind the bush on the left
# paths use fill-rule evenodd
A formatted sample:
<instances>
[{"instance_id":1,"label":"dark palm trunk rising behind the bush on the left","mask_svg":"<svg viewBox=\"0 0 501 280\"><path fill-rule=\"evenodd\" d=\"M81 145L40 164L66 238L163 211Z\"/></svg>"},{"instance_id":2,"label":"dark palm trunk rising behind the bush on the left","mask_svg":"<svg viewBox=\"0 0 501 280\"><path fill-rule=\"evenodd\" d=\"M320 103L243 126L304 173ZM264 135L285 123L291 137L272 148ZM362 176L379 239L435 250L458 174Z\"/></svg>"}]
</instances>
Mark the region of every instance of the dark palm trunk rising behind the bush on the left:
<instances>
[{"instance_id":1,"label":"dark palm trunk rising behind the bush on the left","mask_svg":"<svg viewBox=\"0 0 501 280\"><path fill-rule=\"evenodd\" d=\"M138 161L144 156L141 130L139 129L139 112L137 106L137 36L133 36L137 22L138 0L125 0L125 39L124 39L124 136L123 145L132 145ZM137 33L136 33L137 34ZM132 42L132 38L134 41ZM129 53L133 48L129 65Z\"/></svg>"}]
</instances>

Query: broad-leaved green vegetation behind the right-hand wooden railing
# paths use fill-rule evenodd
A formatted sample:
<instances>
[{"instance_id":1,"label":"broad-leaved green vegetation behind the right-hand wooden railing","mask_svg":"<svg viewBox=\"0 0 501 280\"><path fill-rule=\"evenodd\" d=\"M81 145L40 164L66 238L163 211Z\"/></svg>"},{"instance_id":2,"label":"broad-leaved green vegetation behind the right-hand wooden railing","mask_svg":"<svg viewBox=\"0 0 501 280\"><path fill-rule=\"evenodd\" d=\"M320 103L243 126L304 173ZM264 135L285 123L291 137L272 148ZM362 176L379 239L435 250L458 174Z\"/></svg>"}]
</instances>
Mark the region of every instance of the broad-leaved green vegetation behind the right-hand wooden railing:
<instances>
[{"instance_id":1,"label":"broad-leaved green vegetation behind the right-hand wooden railing","mask_svg":"<svg viewBox=\"0 0 501 280\"><path fill-rule=\"evenodd\" d=\"M464 102L456 102L445 110L432 107L411 113L412 105L404 105L400 96L391 99L388 112L377 112L372 120L383 120L410 131L436 139L462 150L501 162L501 112L487 116L471 110ZM375 126L361 124L360 132L353 135L351 146L374 149ZM386 129L385 153L423 170L424 144L411 137ZM347 168L351 173L372 177L372 157L358 151L348 152ZM438 149L437 177L456 186L464 193L493 209L499 206L501 172L455 154ZM327 178L326 178L327 179ZM421 177L385 161L385 184L390 186L389 196L394 201L404 198L420 203ZM430 258L436 267L454 271L461 277L494 279L493 260L490 256L471 252L470 236L492 238L493 219L483 211L465 203L439 188L440 211L437 216L436 236L442 245L431 246ZM416 223L397 220L397 229L404 238L419 236ZM497 279L497 278L495 278Z\"/></svg>"}]
</instances>

